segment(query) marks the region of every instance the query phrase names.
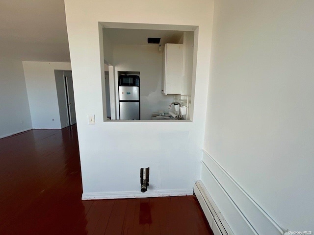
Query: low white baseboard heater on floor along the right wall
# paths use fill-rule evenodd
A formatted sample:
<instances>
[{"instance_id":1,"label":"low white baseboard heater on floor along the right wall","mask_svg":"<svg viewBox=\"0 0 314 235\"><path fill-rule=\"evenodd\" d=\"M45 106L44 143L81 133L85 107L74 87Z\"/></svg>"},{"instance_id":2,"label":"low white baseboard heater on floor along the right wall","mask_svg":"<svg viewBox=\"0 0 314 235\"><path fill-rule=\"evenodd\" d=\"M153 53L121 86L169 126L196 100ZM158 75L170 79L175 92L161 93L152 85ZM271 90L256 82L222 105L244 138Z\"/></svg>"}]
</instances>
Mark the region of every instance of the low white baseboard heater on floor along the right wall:
<instances>
[{"instance_id":1,"label":"low white baseboard heater on floor along the right wall","mask_svg":"<svg viewBox=\"0 0 314 235\"><path fill-rule=\"evenodd\" d=\"M224 219L223 215L210 197L202 181L198 180L195 183L194 194L204 211L214 235L234 235L227 221Z\"/></svg>"}]
</instances>

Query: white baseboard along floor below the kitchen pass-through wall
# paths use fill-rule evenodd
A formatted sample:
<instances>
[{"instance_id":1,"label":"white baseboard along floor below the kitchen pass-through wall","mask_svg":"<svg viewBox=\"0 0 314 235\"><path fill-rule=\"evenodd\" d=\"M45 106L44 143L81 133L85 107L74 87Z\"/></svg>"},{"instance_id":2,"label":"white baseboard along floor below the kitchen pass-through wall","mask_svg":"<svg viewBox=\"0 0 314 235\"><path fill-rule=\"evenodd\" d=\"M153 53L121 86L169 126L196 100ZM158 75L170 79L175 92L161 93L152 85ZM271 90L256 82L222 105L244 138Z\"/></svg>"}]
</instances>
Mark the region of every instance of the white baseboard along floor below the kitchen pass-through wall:
<instances>
[{"instance_id":1,"label":"white baseboard along floor below the kitchen pass-through wall","mask_svg":"<svg viewBox=\"0 0 314 235\"><path fill-rule=\"evenodd\" d=\"M144 198L144 197L172 197L193 195L193 188L152 190L146 192L121 191L121 192L86 192L82 194L82 200Z\"/></svg>"}]
</instances>

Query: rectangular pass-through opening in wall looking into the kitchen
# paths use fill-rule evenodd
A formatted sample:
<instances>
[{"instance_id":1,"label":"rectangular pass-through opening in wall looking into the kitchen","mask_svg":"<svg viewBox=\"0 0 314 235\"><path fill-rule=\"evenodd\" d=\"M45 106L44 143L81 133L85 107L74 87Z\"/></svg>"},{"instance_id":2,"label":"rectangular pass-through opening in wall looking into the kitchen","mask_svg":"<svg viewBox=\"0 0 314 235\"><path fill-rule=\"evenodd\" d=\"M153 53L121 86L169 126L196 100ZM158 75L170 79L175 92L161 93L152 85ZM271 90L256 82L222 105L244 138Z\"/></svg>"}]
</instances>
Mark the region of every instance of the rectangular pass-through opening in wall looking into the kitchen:
<instances>
[{"instance_id":1,"label":"rectangular pass-through opening in wall looking into the kitchen","mask_svg":"<svg viewBox=\"0 0 314 235\"><path fill-rule=\"evenodd\" d=\"M117 24L103 23L100 35L104 121L191 120L197 27Z\"/></svg>"}]
</instances>

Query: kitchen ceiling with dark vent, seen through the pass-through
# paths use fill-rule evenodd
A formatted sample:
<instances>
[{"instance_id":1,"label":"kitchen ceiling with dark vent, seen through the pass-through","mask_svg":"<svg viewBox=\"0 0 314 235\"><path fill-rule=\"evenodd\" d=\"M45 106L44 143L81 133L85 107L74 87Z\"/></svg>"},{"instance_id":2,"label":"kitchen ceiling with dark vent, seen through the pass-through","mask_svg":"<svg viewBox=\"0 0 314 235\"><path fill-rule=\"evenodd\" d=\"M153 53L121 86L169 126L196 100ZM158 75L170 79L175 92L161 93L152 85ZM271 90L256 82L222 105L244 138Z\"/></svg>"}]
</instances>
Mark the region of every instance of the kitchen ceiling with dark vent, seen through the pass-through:
<instances>
[{"instance_id":1,"label":"kitchen ceiling with dark vent, seen through the pass-through","mask_svg":"<svg viewBox=\"0 0 314 235\"><path fill-rule=\"evenodd\" d=\"M150 37L160 38L160 44L164 46L165 43L178 43L183 31L105 28L105 34L108 35L112 44L154 45L147 43L147 38Z\"/></svg>"}]
</instances>

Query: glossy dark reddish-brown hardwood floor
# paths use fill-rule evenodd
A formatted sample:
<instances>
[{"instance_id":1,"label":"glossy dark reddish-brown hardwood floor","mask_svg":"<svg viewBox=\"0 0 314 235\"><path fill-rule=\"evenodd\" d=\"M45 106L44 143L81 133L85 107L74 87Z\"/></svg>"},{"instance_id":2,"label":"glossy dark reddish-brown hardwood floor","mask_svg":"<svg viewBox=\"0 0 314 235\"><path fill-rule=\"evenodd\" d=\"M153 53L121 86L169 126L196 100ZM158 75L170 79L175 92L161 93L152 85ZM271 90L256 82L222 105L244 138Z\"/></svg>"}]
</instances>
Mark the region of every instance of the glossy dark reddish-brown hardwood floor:
<instances>
[{"instance_id":1,"label":"glossy dark reddish-brown hardwood floor","mask_svg":"<svg viewBox=\"0 0 314 235\"><path fill-rule=\"evenodd\" d=\"M194 196L81 201L81 193L75 126L0 139L0 235L212 235Z\"/></svg>"}]
</instances>

